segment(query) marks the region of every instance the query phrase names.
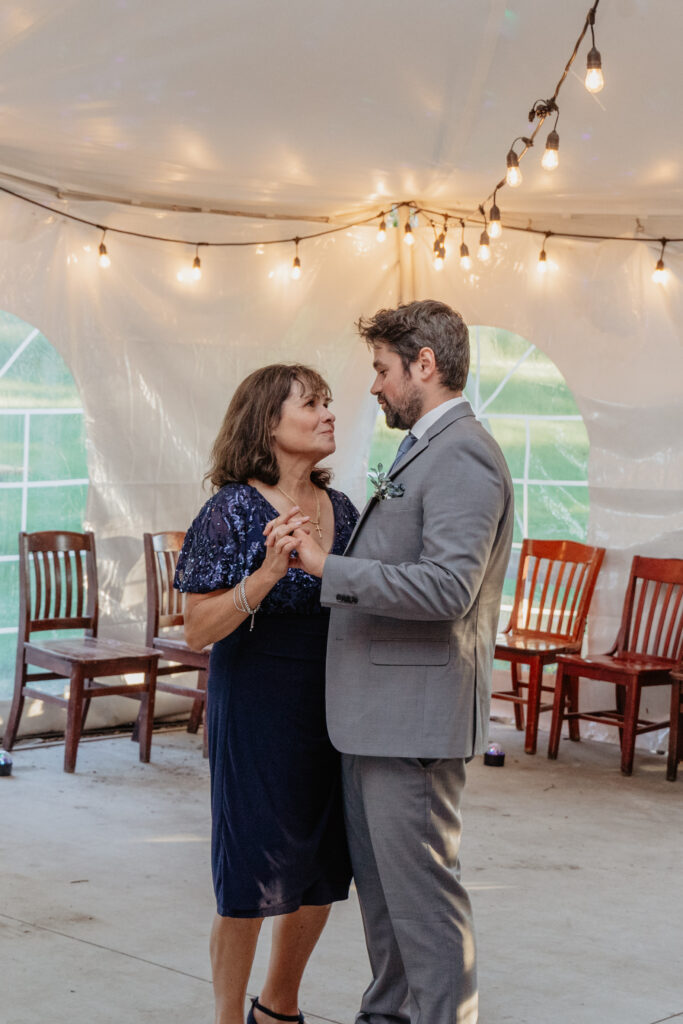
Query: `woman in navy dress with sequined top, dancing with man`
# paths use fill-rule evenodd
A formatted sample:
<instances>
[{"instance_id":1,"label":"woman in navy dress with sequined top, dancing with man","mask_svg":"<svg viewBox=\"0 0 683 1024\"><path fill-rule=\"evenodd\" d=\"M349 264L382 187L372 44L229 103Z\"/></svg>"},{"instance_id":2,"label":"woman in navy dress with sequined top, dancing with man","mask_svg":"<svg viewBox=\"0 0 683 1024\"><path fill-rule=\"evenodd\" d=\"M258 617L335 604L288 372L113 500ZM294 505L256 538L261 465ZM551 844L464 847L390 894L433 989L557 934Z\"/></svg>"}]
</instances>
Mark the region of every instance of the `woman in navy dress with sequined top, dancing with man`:
<instances>
[{"instance_id":1,"label":"woman in navy dress with sequined top, dancing with man","mask_svg":"<svg viewBox=\"0 0 683 1024\"><path fill-rule=\"evenodd\" d=\"M208 682L216 1024L243 1024L263 918L276 915L250 1024L302 1021L298 989L351 870L339 755L325 722L329 611L290 561L294 530L341 554L357 512L317 463L335 450L330 389L275 365L237 389L214 443L214 486L187 530L176 587Z\"/></svg>"}]
</instances>

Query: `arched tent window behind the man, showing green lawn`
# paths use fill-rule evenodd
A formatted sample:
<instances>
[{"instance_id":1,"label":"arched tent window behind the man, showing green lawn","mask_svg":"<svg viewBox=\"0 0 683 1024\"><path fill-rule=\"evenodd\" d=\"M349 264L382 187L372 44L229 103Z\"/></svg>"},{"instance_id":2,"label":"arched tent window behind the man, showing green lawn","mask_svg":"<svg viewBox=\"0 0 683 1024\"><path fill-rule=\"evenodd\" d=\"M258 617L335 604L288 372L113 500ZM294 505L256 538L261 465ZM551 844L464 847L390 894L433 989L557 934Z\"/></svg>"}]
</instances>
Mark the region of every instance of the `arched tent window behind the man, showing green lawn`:
<instances>
[{"instance_id":1,"label":"arched tent window behind the man, showing green lawn","mask_svg":"<svg viewBox=\"0 0 683 1024\"><path fill-rule=\"evenodd\" d=\"M503 450L515 488L515 530L502 622L512 607L525 537L586 541L588 432L564 378L536 345L493 327L470 328L465 394ZM402 434L378 413L370 465L388 468ZM369 487L369 495L371 488Z\"/></svg>"}]
</instances>

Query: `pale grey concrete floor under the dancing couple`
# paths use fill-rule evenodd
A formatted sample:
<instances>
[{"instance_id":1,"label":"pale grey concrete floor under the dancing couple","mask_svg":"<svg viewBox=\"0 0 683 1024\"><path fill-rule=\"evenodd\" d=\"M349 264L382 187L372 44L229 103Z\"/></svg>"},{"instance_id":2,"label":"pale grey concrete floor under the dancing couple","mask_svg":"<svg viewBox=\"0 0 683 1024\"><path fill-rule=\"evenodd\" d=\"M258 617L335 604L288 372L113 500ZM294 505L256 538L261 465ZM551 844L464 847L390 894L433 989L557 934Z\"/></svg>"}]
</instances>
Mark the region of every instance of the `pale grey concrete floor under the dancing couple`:
<instances>
[{"instance_id":1,"label":"pale grey concrete floor under the dancing couple","mask_svg":"<svg viewBox=\"0 0 683 1024\"><path fill-rule=\"evenodd\" d=\"M683 1022L683 775L563 742L470 766L463 843L481 1024ZM544 749L542 739L541 748ZM1 1024L211 1024L208 769L201 739L127 737L13 754L0 778ZM264 927L250 991L267 957ZM337 904L301 1006L351 1024L368 967L355 896Z\"/></svg>"}]
</instances>

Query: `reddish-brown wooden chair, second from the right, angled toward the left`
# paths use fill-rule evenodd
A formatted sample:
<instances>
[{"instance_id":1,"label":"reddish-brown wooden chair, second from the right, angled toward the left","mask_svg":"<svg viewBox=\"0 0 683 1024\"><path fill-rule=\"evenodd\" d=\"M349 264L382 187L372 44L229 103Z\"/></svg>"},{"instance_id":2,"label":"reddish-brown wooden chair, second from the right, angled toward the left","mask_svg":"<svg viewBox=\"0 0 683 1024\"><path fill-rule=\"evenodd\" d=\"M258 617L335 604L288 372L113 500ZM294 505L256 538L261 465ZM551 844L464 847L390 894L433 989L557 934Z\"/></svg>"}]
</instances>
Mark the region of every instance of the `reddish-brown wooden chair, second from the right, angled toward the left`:
<instances>
[{"instance_id":1,"label":"reddish-brown wooden chair, second from the right, angled toward the left","mask_svg":"<svg viewBox=\"0 0 683 1024\"><path fill-rule=\"evenodd\" d=\"M679 685L670 675L681 660L683 647L683 558L636 556L624 602L616 643L607 654L558 657L555 703L548 757L556 758L562 721L566 718L579 739L579 722L606 722L620 731L622 771L633 771L636 736L664 729L670 722L639 717L644 686ZM615 709L580 712L580 679L601 679L615 686ZM568 710L567 710L568 709ZM571 735L571 734L570 734ZM678 740L676 740L678 750Z\"/></svg>"}]
</instances>

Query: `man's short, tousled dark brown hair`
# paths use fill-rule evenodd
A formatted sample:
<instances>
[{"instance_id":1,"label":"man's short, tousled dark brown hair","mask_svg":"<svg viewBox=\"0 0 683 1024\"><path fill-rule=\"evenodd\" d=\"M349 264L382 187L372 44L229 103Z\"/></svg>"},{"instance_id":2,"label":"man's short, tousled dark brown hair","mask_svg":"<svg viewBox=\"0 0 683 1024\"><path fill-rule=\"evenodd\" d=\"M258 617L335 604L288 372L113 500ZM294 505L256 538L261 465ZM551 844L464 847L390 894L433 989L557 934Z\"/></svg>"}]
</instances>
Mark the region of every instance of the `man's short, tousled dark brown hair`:
<instances>
[{"instance_id":1,"label":"man's short, tousled dark brown hair","mask_svg":"<svg viewBox=\"0 0 683 1024\"><path fill-rule=\"evenodd\" d=\"M465 321L445 302L424 299L395 309L361 316L358 334L375 345L386 344L400 355L403 369L415 362L421 348L431 348L443 387L462 391L470 368L470 338Z\"/></svg>"}]
</instances>

